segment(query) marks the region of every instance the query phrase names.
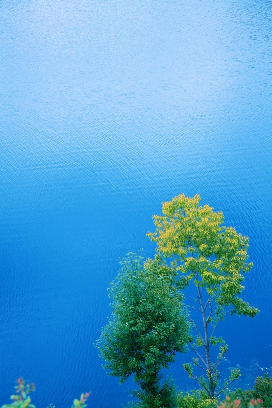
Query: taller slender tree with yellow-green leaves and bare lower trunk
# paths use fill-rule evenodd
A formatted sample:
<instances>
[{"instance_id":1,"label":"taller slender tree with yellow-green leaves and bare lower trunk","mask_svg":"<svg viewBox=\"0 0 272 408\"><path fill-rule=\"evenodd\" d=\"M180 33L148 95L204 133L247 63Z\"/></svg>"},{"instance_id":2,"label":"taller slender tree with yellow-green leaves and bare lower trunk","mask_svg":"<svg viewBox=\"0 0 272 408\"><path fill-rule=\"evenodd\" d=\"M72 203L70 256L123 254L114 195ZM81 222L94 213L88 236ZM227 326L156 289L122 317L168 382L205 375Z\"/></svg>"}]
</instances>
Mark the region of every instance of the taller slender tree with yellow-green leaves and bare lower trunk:
<instances>
[{"instance_id":1,"label":"taller slender tree with yellow-green leaves and bare lower trunk","mask_svg":"<svg viewBox=\"0 0 272 408\"><path fill-rule=\"evenodd\" d=\"M253 265L247 262L248 237L223 225L222 212L214 212L208 205L201 207L200 199L199 195L188 198L181 194L164 202L163 215L154 216L156 232L147 235L157 242L158 252L171 259L171 267L179 273L177 286L188 300L194 330L190 346L196 354L193 365L204 375L196 376L191 364L184 368L213 398L240 375L239 370L232 370L218 389L218 365L228 350L224 340L214 335L218 322L226 313L254 317L258 309L238 296L244 288L244 273ZM212 346L219 348L214 362Z\"/></svg>"}]
</instances>

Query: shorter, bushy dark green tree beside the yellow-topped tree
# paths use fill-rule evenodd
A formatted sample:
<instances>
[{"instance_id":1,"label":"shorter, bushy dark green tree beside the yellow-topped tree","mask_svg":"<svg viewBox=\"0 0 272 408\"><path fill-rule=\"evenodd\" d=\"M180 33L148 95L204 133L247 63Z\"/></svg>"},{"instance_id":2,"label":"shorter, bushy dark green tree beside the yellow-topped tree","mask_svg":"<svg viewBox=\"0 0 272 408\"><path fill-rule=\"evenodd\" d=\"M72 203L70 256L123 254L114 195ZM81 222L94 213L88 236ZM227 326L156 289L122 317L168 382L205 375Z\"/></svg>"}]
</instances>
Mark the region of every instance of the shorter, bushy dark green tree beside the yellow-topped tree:
<instances>
[{"instance_id":1,"label":"shorter, bushy dark green tree beside the yellow-topped tree","mask_svg":"<svg viewBox=\"0 0 272 408\"><path fill-rule=\"evenodd\" d=\"M111 283L112 315L97 347L109 375L124 382L131 374L139 388L132 395L146 408L175 406L171 381L162 385L177 351L184 351L188 324L182 313L182 295L173 285L176 271L160 256L143 263L130 254Z\"/></svg>"}]
</instances>

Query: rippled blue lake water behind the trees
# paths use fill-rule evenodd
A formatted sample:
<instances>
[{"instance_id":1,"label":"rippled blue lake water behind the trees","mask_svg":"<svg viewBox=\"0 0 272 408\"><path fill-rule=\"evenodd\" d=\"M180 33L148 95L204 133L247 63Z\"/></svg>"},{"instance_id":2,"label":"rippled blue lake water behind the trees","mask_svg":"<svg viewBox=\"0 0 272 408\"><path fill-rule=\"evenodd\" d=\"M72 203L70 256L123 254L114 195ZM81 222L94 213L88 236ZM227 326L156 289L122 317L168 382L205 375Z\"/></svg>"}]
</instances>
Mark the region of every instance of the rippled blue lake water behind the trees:
<instances>
[{"instance_id":1,"label":"rippled blue lake water behind the trees","mask_svg":"<svg viewBox=\"0 0 272 408\"><path fill-rule=\"evenodd\" d=\"M41 408L126 403L92 343L118 258L152 256L181 192L250 237L261 314L220 328L250 384L272 366L271 1L2 0L0 21L0 404L19 376Z\"/></svg>"}]
</instances>

